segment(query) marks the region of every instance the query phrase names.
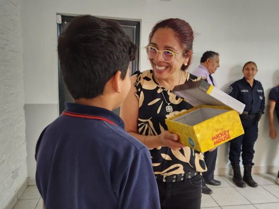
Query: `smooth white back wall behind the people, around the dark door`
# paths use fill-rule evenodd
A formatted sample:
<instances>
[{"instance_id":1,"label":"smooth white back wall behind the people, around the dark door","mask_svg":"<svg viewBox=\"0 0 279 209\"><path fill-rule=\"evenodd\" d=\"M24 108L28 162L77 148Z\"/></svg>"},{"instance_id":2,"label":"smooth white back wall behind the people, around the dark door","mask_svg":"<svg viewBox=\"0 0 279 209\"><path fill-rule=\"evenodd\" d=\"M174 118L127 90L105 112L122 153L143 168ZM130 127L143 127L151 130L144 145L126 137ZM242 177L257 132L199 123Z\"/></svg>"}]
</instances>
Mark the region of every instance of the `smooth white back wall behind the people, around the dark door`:
<instances>
[{"instance_id":1,"label":"smooth white back wall behind the people, around the dark door","mask_svg":"<svg viewBox=\"0 0 279 209\"><path fill-rule=\"evenodd\" d=\"M194 61L190 72L198 66L204 51L219 52L221 67L214 77L219 87L226 91L229 84L242 78L243 64L253 60L259 68L256 79L262 82L267 95L279 80L279 63L276 62L279 55L278 8L278 0L24 0L20 13L25 105L53 105L52 116L48 116L44 123L57 115L56 13L140 20L141 47L147 44L148 34L158 20L169 17L185 19L199 34L194 41ZM140 70L149 68L141 48ZM42 109L41 114L43 119L48 112ZM256 143L255 166L259 166L261 172L267 172L269 166L279 165L278 139L269 139L267 121L265 114ZM36 134L32 138L27 137L28 150L34 150L34 135L38 135L44 125L43 122L37 124ZM216 171L229 167L227 150L227 145L220 146ZM28 151L31 156L27 160L29 177L34 177L33 154Z\"/></svg>"}]
</instances>

